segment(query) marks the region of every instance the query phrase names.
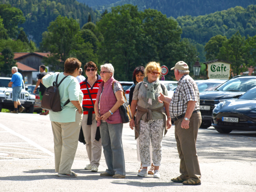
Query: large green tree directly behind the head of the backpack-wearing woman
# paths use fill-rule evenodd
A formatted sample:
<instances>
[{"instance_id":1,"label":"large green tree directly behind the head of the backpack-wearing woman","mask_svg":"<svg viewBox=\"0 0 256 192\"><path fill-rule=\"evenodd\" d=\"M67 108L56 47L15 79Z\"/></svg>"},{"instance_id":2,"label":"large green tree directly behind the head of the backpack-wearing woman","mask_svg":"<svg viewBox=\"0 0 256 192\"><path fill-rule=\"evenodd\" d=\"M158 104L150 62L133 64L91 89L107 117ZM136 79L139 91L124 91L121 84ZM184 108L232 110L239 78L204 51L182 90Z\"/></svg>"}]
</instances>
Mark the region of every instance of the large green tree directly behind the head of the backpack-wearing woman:
<instances>
[{"instance_id":1,"label":"large green tree directly behind the head of the backpack-wearing woman","mask_svg":"<svg viewBox=\"0 0 256 192\"><path fill-rule=\"evenodd\" d=\"M64 62L69 57L76 57L82 63L96 59L90 42L81 38L79 23L73 18L58 16L43 33L41 50L49 51L50 56L44 62L54 71L63 71Z\"/></svg>"}]
</instances>

